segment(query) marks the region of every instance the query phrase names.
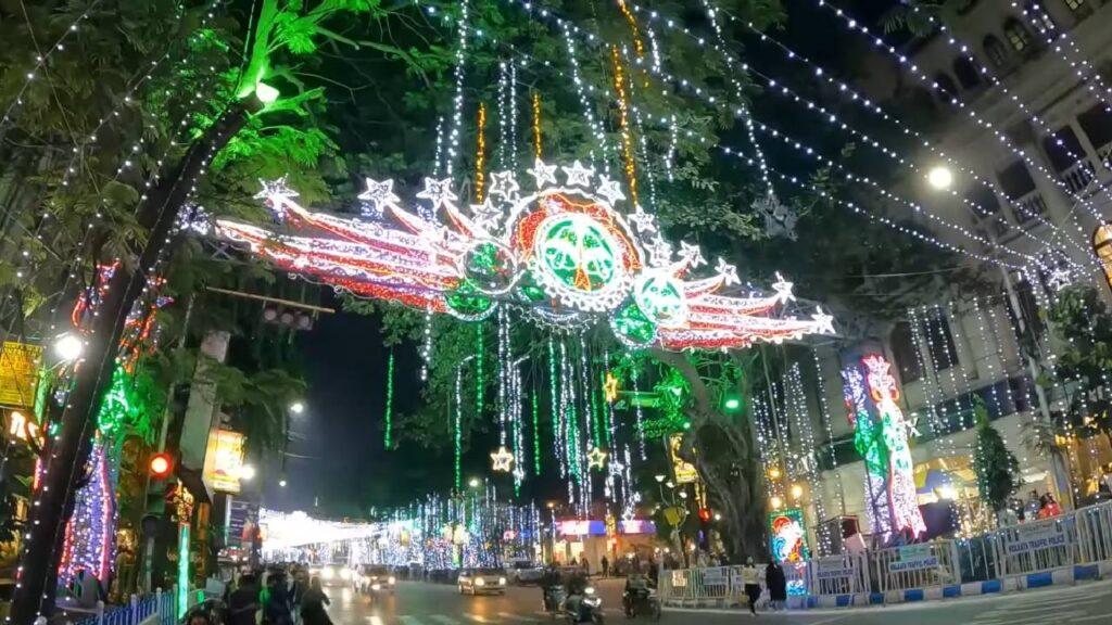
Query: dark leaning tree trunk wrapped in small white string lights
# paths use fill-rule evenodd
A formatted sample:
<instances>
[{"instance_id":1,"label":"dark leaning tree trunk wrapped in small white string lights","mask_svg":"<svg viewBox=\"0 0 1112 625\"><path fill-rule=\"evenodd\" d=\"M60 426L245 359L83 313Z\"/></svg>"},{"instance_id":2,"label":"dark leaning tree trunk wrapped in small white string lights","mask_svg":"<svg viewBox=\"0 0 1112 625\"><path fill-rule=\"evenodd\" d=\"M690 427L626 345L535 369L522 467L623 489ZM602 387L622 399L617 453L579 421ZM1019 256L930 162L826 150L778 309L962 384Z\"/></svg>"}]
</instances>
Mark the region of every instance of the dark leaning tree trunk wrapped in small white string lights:
<instances>
[{"instance_id":1,"label":"dark leaning tree trunk wrapped in small white string lights","mask_svg":"<svg viewBox=\"0 0 1112 625\"><path fill-rule=\"evenodd\" d=\"M193 190L201 170L249 119L249 111L236 103L185 158L161 178L138 211L139 224L149 232L136 262L122 262L108 282L108 295L92 318L83 360L78 365L61 420L61 430L47 462L41 488L33 495L30 536L24 542L11 605L11 622L28 625L40 614L53 612L58 563L66 524L73 514L77 483L85 473L97 414L112 379L117 348L132 305L146 287L147 272L166 245L181 205ZM107 582L107 581L102 581Z\"/></svg>"}]
</instances>

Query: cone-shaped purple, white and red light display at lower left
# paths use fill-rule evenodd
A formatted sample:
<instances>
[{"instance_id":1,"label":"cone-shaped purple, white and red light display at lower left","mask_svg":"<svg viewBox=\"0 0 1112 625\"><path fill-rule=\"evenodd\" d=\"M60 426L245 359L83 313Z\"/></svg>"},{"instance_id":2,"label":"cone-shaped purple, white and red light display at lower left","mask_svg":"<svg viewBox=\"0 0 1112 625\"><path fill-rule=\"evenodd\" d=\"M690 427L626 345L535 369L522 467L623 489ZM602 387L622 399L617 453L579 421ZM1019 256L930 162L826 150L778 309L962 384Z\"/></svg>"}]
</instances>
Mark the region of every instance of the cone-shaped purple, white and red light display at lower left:
<instances>
[{"instance_id":1,"label":"cone-shaped purple, white and red light display at lower left","mask_svg":"<svg viewBox=\"0 0 1112 625\"><path fill-rule=\"evenodd\" d=\"M75 497L73 516L66 525L59 582L70 583L87 571L107 583L116 547L116 485L109 457L111 438L98 436L89 455L89 482Z\"/></svg>"}]
</instances>

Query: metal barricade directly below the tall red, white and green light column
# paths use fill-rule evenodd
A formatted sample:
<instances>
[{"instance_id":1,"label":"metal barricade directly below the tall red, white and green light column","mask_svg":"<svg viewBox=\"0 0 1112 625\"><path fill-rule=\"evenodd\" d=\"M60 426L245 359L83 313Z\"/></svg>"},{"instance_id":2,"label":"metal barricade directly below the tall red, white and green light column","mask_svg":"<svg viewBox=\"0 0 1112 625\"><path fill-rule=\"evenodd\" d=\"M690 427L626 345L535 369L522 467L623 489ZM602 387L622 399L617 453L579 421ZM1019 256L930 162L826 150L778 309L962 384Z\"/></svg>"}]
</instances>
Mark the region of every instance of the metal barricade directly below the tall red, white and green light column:
<instances>
[{"instance_id":1,"label":"metal barricade directly below the tall red, white and green light column","mask_svg":"<svg viewBox=\"0 0 1112 625\"><path fill-rule=\"evenodd\" d=\"M880 591L956 584L960 581L952 540L935 540L868 552L870 571Z\"/></svg>"}]
</instances>

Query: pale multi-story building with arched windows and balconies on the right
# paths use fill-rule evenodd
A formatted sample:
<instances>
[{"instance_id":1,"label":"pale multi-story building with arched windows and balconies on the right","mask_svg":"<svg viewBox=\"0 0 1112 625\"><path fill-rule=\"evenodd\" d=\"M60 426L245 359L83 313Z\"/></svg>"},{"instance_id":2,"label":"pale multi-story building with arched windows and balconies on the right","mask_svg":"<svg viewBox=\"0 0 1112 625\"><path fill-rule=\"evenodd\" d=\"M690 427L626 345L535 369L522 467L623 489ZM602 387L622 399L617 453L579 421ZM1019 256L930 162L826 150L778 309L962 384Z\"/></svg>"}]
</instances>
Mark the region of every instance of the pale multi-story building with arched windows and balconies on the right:
<instances>
[{"instance_id":1,"label":"pale multi-story building with arched windows and balconies on the right","mask_svg":"<svg viewBox=\"0 0 1112 625\"><path fill-rule=\"evenodd\" d=\"M922 217L920 226L1013 265L1019 255L1072 261L1074 279L1106 289L1092 237L1112 215L1112 1L969 0L947 30L916 38L897 54L883 52L865 61L866 92L890 110L913 111L912 126L930 128L923 133L930 146L913 156L920 170L944 167L952 176L930 182L909 176L898 192L1017 255ZM933 83L915 81L915 72ZM1069 261L1055 258L1063 255ZM1037 314L1046 278L1046 271L1001 269L997 295L951 289L950 301L914 308L868 328L872 338L820 353L831 440L817 453L821 485L801 496L813 524L845 514L871 530L865 464L841 408L841 370L867 354L892 363L897 404L914 426L915 486L932 530L952 510L979 513L971 456L982 411L1021 462L1024 498L1032 489L1068 504L1095 497L1092 478L1112 462L1104 437L1070 442L1060 459L1034 443L1032 424L1065 408L1062 388L1035 384L1053 367ZM818 414L816 399L812 406Z\"/></svg>"}]
</instances>

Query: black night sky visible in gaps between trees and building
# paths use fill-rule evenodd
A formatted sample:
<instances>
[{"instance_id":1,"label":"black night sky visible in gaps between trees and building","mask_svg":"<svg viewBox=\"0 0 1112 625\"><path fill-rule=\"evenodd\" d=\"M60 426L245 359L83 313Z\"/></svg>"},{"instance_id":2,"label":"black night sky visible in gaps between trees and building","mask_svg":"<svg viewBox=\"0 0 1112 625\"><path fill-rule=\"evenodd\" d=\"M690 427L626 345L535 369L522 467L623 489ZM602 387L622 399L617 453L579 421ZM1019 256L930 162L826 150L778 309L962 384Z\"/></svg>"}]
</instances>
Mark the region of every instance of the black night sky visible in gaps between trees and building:
<instances>
[{"instance_id":1,"label":"black night sky visible in gaps between trees and building","mask_svg":"<svg viewBox=\"0 0 1112 625\"><path fill-rule=\"evenodd\" d=\"M844 1L841 6L875 27L885 6L894 2ZM774 37L798 52L821 60L827 68L852 67L867 49L860 37L846 38L828 12L814 0L786 0L788 23ZM895 42L895 36L885 36ZM742 52L763 72L798 83L798 66L755 41ZM840 72L842 77L850 71ZM793 80L794 79L794 80ZM757 102L758 116L783 116L774 98ZM788 120L790 121L790 120ZM780 122L777 122L780 123ZM376 317L339 311L321 315L315 328L297 337L309 384L307 409L294 415L285 472L277 458L264 470L264 505L270 508L314 512L329 516L366 515L373 505L390 505L419 496L430 488L450 487L450 448L431 455L413 443L399 449L383 448L383 411L386 396L387 349ZM395 414L418 406L421 383L416 346L396 349ZM478 447L478 445L477 445ZM478 454L474 456L478 457ZM468 459L475 470L485 458ZM288 486L279 487L280 474Z\"/></svg>"}]
</instances>

